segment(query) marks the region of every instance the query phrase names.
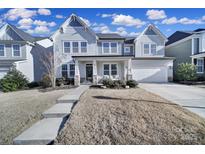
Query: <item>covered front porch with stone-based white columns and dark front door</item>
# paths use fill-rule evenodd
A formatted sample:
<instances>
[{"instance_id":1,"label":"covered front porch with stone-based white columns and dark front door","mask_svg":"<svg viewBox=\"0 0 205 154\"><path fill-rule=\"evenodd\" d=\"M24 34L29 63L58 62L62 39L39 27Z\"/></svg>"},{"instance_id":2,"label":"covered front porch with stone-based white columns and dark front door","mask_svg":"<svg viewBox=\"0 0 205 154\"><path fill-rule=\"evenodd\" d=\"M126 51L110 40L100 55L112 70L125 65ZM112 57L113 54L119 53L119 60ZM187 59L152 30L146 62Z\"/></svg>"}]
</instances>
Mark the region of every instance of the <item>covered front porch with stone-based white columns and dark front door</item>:
<instances>
[{"instance_id":1,"label":"covered front porch with stone-based white columns and dark front door","mask_svg":"<svg viewBox=\"0 0 205 154\"><path fill-rule=\"evenodd\" d=\"M131 57L75 56L74 84L97 85L103 79L129 80L132 78Z\"/></svg>"}]
</instances>

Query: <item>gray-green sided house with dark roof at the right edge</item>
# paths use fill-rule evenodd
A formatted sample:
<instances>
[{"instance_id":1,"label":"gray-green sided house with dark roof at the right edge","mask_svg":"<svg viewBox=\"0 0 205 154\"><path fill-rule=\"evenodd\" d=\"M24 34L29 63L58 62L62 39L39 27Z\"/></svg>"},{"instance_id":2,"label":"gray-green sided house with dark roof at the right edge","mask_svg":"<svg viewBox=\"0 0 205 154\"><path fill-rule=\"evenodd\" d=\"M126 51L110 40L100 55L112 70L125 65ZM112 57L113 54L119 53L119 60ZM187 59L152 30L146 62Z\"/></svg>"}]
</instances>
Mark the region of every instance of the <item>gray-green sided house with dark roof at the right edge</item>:
<instances>
[{"instance_id":1,"label":"gray-green sided house with dark roof at the right edge","mask_svg":"<svg viewBox=\"0 0 205 154\"><path fill-rule=\"evenodd\" d=\"M205 74L205 29L177 31L168 40L165 55L176 58L174 73L180 63L192 63L199 76Z\"/></svg>"}]
</instances>

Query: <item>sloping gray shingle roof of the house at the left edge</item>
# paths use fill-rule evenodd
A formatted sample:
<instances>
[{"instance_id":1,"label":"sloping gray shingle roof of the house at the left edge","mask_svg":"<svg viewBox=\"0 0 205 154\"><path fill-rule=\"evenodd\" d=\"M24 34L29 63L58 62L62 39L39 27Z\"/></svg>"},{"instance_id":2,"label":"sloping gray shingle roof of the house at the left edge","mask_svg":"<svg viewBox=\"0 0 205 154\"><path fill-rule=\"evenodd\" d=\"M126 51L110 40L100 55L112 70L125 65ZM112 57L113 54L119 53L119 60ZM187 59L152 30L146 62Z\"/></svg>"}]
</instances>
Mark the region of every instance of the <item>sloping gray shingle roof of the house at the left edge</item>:
<instances>
[{"instance_id":1,"label":"sloping gray shingle roof of the house at the left edge","mask_svg":"<svg viewBox=\"0 0 205 154\"><path fill-rule=\"evenodd\" d=\"M23 40L34 42L35 38L29 35L28 33L18 29L16 26L8 24Z\"/></svg>"}]
</instances>

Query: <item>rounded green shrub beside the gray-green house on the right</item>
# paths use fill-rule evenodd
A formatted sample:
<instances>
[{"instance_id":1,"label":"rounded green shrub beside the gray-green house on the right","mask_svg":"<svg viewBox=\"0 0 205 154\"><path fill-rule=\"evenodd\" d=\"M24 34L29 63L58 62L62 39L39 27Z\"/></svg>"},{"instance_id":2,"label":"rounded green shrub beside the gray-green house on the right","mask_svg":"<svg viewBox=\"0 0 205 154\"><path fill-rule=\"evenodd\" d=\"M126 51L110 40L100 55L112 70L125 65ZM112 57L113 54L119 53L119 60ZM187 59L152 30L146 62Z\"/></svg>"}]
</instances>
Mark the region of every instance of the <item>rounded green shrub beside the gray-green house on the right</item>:
<instances>
[{"instance_id":1,"label":"rounded green shrub beside the gray-green house on the right","mask_svg":"<svg viewBox=\"0 0 205 154\"><path fill-rule=\"evenodd\" d=\"M176 70L178 81L194 81L197 79L196 66L188 63L181 63Z\"/></svg>"}]
</instances>

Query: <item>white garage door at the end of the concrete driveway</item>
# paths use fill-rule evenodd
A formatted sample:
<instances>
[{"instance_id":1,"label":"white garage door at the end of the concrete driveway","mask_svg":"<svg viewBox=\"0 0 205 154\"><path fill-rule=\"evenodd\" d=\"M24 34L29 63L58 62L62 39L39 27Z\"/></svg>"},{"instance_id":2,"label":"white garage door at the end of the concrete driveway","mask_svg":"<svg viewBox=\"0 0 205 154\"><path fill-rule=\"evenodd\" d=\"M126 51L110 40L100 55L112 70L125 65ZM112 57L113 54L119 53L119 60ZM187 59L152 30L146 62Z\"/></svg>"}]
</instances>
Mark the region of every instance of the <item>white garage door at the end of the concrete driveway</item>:
<instances>
[{"instance_id":1,"label":"white garage door at the end of the concrete driveway","mask_svg":"<svg viewBox=\"0 0 205 154\"><path fill-rule=\"evenodd\" d=\"M149 65L132 66L133 79L138 82L168 82L167 67L155 66L156 63Z\"/></svg>"}]
</instances>

